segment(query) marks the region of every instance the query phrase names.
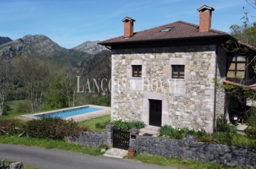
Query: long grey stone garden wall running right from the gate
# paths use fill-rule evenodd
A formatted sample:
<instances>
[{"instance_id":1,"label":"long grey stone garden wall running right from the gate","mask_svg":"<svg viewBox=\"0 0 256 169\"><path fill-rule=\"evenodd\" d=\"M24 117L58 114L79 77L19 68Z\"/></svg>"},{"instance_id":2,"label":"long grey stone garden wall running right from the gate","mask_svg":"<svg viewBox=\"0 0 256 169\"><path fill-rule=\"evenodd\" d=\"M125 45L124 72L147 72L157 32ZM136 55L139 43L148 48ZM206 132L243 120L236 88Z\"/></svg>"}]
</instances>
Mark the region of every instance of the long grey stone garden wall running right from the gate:
<instances>
[{"instance_id":1,"label":"long grey stone garden wall running right from the gate","mask_svg":"<svg viewBox=\"0 0 256 169\"><path fill-rule=\"evenodd\" d=\"M133 129L131 135L137 134ZM136 135L130 139L130 147L141 153L159 154L185 160L211 161L227 166L256 168L256 148L197 142L192 135L185 140L146 137Z\"/></svg>"}]
</instances>

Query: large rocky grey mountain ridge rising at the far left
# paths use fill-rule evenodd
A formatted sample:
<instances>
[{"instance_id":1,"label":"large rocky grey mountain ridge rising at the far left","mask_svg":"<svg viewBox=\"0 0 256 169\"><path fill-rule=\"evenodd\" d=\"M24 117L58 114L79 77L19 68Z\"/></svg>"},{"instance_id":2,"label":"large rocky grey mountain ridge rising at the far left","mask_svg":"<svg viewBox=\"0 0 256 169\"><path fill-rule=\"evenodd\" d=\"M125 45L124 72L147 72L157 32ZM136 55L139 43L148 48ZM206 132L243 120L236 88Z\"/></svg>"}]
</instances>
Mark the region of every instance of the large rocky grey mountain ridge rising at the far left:
<instances>
[{"instance_id":1,"label":"large rocky grey mountain ridge rising at the far left","mask_svg":"<svg viewBox=\"0 0 256 169\"><path fill-rule=\"evenodd\" d=\"M91 54L80 50L60 47L45 35L26 35L15 41L0 45L0 58L15 55L35 56L51 60L59 66L76 66Z\"/></svg>"}]
</instances>

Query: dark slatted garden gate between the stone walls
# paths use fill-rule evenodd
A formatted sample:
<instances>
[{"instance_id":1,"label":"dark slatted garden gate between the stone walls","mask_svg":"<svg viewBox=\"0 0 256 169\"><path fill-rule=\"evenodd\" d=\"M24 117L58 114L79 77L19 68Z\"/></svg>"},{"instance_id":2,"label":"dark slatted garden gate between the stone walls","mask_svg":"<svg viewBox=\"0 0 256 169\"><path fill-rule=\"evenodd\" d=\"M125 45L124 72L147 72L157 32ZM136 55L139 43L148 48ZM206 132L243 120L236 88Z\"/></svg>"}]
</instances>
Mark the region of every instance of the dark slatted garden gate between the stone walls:
<instances>
[{"instance_id":1,"label":"dark slatted garden gate between the stone walls","mask_svg":"<svg viewBox=\"0 0 256 169\"><path fill-rule=\"evenodd\" d=\"M127 150L129 148L130 132L113 128L113 148Z\"/></svg>"}]
</instances>

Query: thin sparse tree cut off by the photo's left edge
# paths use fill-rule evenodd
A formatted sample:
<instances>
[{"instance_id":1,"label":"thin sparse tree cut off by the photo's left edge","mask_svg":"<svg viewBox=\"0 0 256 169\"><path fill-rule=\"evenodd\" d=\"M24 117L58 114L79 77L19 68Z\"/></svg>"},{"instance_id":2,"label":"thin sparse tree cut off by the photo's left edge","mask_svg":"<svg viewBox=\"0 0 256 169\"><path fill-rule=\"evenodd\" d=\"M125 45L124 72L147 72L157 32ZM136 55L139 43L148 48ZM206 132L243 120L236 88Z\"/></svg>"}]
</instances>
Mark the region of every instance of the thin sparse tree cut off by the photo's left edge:
<instances>
[{"instance_id":1,"label":"thin sparse tree cut off by the photo's left edge","mask_svg":"<svg viewBox=\"0 0 256 169\"><path fill-rule=\"evenodd\" d=\"M4 97L11 84L10 64L8 59L0 61L0 116L3 115Z\"/></svg>"}]
</instances>

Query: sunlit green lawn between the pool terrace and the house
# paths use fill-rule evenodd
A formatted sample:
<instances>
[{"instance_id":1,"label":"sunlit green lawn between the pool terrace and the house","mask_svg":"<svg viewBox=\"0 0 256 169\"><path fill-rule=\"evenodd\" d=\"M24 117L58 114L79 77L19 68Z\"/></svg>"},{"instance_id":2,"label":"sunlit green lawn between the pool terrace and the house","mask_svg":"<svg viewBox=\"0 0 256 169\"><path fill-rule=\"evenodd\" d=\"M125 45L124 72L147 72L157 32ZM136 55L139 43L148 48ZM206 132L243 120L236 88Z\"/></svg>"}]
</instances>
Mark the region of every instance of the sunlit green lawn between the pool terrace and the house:
<instances>
[{"instance_id":1,"label":"sunlit green lawn between the pool terrace and the house","mask_svg":"<svg viewBox=\"0 0 256 169\"><path fill-rule=\"evenodd\" d=\"M110 115L101 116L99 118L89 119L86 121L79 122L78 126L80 127L89 127L92 131L98 131L98 132L106 132L105 128L96 128L95 124L106 124L106 122L110 121L111 117Z\"/></svg>"}]
</instances>

